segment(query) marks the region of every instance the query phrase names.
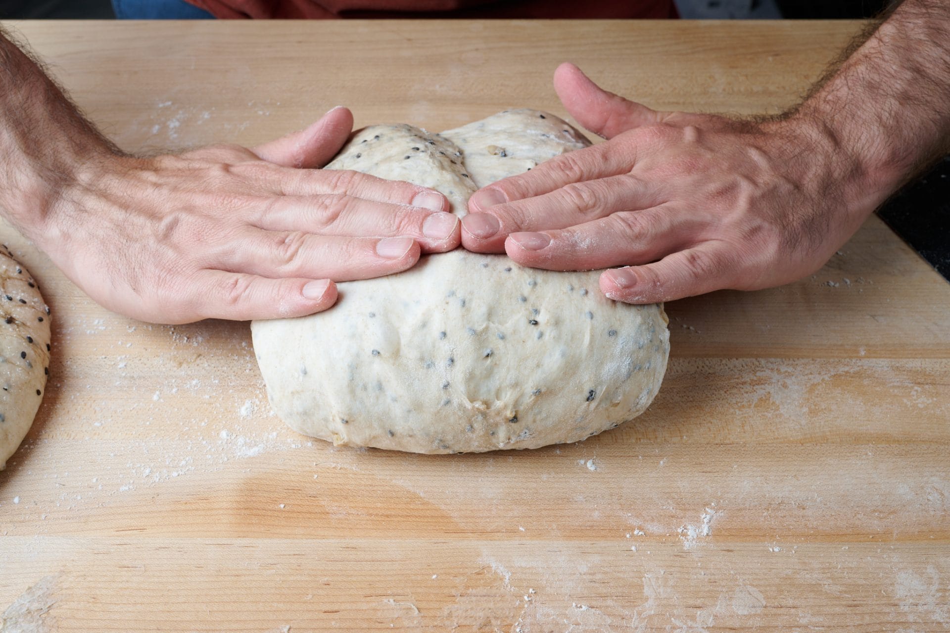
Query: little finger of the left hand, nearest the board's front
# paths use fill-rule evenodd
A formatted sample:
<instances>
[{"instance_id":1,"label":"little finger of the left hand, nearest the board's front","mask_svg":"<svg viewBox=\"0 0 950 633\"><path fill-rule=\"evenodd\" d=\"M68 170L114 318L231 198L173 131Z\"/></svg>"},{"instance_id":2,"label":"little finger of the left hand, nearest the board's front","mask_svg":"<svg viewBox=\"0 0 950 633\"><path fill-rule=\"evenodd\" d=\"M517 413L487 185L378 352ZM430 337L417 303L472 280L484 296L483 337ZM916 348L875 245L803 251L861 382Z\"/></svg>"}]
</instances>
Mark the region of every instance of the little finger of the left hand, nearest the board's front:
<instances>
[{"instance_id":1,"label":"little finger of the left hand, nearest the board's front","mask_svg":"<svg viewBox=\"0 0 950 633\"><path fill-rule=\"evenodd\" d=\"M201 319L287 319L333 306L329 279L268 279L254 274L205 270L195 286L194 310Z\"/></svg>"}]
</instances>

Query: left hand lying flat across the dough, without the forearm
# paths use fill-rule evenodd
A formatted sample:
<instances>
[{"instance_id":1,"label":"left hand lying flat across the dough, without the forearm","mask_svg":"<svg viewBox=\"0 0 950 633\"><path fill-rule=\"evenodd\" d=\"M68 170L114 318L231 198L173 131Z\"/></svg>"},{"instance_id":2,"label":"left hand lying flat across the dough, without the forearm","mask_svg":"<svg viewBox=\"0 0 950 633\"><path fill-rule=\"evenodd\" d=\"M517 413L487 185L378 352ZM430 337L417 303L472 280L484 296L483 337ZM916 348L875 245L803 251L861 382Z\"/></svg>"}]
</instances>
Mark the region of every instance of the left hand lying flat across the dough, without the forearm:
<instances>
[{"instance_id":1,"label":"left hand lying flat across the dough, without the forearm","mask_svg":"<svg viewBox=\"0 0 950 633\"><path fill-rule=\"evenodd\" d=\"M309 169L351 129L335 108L253 150L93 160L28 233L90 297L143 321L317 312L336 300L334 281L406 270L460 239L444 195Z\"/></svg>"}]
</instances>

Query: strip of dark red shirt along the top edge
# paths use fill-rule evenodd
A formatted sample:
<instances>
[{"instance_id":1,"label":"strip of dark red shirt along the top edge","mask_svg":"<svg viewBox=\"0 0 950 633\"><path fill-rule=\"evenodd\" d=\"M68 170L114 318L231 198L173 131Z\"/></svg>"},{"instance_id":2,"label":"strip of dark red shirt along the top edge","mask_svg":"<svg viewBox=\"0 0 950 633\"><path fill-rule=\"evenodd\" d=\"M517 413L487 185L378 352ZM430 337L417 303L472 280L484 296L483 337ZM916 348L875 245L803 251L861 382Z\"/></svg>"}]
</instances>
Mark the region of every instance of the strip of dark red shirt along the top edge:
<instances>
[{"instance_id":1,"label":"strip of dark red shirt along the top edge","mask_svg":"<svg viewBox=\"0 0 950 633\"><path fill-rule=\"evenodd\" d=\"M673 0L187 0L218 18L673 18Z\"/></svg>"}]
</instances>

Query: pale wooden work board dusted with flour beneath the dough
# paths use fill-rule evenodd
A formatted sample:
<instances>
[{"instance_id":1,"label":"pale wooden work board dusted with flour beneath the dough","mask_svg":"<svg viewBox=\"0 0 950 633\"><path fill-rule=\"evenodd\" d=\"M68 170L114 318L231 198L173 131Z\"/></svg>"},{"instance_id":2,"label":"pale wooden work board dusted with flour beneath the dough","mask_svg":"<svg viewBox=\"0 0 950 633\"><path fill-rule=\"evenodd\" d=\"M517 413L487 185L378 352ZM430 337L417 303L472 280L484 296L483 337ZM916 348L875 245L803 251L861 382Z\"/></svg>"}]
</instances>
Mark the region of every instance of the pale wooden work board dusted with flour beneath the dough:
<instances>
[{"instance_id":1,"label":"pale wooden work board dusted with flour beneath the dough","mask_svg":"<svg viewBox=\"0 0 950 633\"><path fill-rule=\"evenodd\" d=\"M8 26L129 150L253 144L337 103L431 129L563 114L562 60L659 108L774 112L860 27ZM669 304L642 418L464 456L296 435L246 323L124 319L0 236L53 315L0 474L0 612L31 600L30 631L950 629L950 285L876 218L799 283Z\"/></svg>"}]
</instances>

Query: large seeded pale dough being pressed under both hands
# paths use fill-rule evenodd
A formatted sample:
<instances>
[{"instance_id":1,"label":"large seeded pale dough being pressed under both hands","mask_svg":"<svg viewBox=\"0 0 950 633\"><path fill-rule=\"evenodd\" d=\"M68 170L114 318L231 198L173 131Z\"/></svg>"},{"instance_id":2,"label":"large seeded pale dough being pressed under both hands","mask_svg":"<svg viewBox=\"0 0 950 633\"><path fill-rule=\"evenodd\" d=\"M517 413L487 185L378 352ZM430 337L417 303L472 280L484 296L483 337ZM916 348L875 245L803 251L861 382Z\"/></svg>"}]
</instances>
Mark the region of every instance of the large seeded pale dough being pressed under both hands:
<instances>
[{"instance_id":1,"label":"large seeded pale dough being pressed under both hands","mask_svg":"<svg viewBox=\"0 0 950 633\"><path fill-rule=\"evenodd\" d=\"M507 110L442 134L372 126L327 168L438 189L463 215L479 187L588 144L553 115ZM662 307L607 299L599 274L459 249L341 283L326 312L252 324L268 397L335 444L455 453L587 438L646 409L669 353Z\"/></svg>"}]
</instances>

